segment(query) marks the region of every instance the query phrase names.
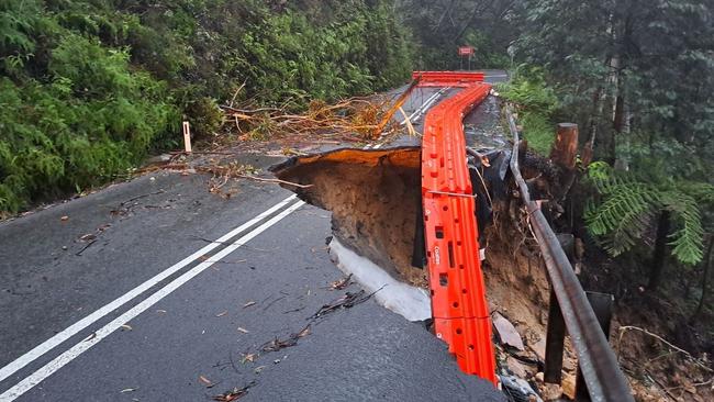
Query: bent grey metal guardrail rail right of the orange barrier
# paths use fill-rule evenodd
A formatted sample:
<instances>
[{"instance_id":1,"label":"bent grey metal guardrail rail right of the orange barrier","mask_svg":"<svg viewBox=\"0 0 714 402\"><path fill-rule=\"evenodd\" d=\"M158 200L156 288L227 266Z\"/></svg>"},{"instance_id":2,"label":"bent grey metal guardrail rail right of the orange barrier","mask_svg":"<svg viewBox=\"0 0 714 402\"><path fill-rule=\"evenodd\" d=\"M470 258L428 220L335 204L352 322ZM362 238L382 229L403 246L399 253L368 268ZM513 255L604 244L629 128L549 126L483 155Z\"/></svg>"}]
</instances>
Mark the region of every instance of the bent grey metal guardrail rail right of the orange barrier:
<instances>
[{"instance_id":1,"label":"bent grey metal guardrail rail right of the orange barrier","mask_svg":"<svg viewBox=\"0 0 714 402\"><path fill-rule=\"evenodd\" d=\"M521 139L510 107L506 108L506 116L514 142L511 171L526 206L529 224L540 246L550 287L576 348L588 393L593 401L634 401L627 379L620 369L615 353L610 347L570 260L540 211L539 203L531 200L528 187L518 166Z\"/></svg>"}]
</instances>

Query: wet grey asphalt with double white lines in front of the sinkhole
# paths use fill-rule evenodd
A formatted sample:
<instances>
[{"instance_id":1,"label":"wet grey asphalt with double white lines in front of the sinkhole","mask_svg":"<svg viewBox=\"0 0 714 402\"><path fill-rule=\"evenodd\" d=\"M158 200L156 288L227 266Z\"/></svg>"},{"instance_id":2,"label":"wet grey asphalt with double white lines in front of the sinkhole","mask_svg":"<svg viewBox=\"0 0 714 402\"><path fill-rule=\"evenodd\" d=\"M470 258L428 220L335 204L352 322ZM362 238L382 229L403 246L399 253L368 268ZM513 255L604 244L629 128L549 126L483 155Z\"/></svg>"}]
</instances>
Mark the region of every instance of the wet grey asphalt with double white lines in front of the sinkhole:
<instances>
[{"instance_id":1,"label":"wet grey asphalt with double white lines in front of the sinkhole","mask_svg":"<svg viewBox=\"0 0 714 402\"><path fill-rule=\"evenodd\" d=\"M331 289L330 214L290 196L160 172L0 223L0 401L503 400L372 300L309 322L359 287Z\"/></svg>"}]
</instances>

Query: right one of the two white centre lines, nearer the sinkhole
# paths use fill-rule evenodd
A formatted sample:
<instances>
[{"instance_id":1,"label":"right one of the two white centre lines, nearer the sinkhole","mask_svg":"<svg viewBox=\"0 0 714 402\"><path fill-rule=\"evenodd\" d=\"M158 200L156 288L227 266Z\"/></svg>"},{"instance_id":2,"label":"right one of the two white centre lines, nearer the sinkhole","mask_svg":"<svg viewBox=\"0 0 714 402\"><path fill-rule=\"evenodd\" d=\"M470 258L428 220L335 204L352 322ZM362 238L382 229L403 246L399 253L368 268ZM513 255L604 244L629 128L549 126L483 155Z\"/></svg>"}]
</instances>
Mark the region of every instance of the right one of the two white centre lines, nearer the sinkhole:
<instances>
[{"instance_id":1,"label":"right one of the two white centre lines, nearer the sinkhole","mask_svg":"<svg viewBox=\"0 0 714 402\"><path fill-rule=\"evenodd\" d=\"M228 247L222 249L221 252L216 253L214 258L215 261L219 261L230 255L231 253L235 252L241 246L245 245L249 241L252 241L254 237L259 235L260 233L265 232L268 230L270 226L275 225L276 223L280 222L283 217L288 216L289 214L293 213L295 210L298 210L300 206L304 205L305 203L303 201L298 201L294 203L292 206L288 208L287 210L280 212L280 214L274 216L266 223L261 224L260 226L256 227L252 232L249 232L247 235L238 238L235 243L230 245ZM85 340L80 340L77 345L72 346L70 349L67 351L63 353L62 355L57 356L54 360L49 361L45 366L43 366L41 369L37 371L33 372L31 376L25 378L24 380L20 381L16 386L12 387L8 391L5 391L3 394L0 395L0 402L12 402L15 399L20 398L22 394L25 392L30 391L33 387L38 384L40 382L44 381L47 377L52 376L55 373L57 370L59 370L63 366L66 364L70 362L75 358L77 358L79 355L83 354L87 351L90 347L97 345L100 340L112 334L114 331L121 328L122 325L126 324L131 320L135 319L137 315L141 313L145 312L146 310L150 309L152 305L158 303L161 299L166 298L169 295L171 292L174 292L176 289L180 288L182 284L188 282L189 280L193 279L196 276L204 271L207 268L211 267L215 261L205 261L193 267L191 270L188 272L181 275L180 277L176 278L171 282L169 282L167 286L158 290L156 293L149 295L146 298L144 301L141 303L136 304L134 308L125 312L124 314L120 315L116 317L114 321L110 322L109 324L104 325L102 328L93 333L91 336L89 336Z\"/></svg>"}]
</instances>

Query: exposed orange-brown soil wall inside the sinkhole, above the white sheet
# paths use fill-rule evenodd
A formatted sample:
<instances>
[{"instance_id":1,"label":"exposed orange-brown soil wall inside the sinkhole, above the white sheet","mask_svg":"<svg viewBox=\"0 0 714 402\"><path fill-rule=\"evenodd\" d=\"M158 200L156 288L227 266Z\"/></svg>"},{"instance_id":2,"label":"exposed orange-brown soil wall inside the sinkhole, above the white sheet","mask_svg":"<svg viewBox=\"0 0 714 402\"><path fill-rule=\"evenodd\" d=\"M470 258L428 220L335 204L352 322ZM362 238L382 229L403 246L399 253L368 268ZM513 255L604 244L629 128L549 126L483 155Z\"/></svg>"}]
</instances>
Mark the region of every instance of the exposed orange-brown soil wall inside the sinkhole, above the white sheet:
<instances>
[{"instance_id":1,"label":"exposed orange-brown soil wall inside the sinkhole, above the white sheet","mask_svg":"<svg viewBox=\"0 0 714 402\"><path fill-rule=\"evenodd\" d=\"M411 265L419 205L421 149L337 149L291 158L270 169L283 187L332 212L334 235L390 275L426 287L426 271Z\"/></svg>"}]
</instances>

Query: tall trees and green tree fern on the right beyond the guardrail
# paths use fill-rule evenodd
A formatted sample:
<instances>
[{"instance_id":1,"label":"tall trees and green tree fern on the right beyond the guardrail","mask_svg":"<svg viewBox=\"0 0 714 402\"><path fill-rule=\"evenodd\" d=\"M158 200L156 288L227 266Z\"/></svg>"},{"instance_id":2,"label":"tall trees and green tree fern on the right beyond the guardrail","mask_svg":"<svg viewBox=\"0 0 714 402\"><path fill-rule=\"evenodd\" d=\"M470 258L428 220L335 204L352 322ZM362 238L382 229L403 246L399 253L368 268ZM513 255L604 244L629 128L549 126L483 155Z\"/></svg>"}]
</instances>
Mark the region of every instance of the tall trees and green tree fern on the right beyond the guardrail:
<instances>
[{"instance_id":1,"label":"tall trees and green tree fern on the right beyond the guardrail","mask_svg":"<svg viewBox=\"0 0 714 402\"><path fill-rule=\"evenodd\" d=\"M712 231L714 101L704 88L714 83L714 9L701 0L527 3L533 33L515 46L544 66L564 115L606 163L590 167L591 234L620 255L643 247L636 239L668 212L670 254L701 263Z\"/></svg>"}]
</instances>

